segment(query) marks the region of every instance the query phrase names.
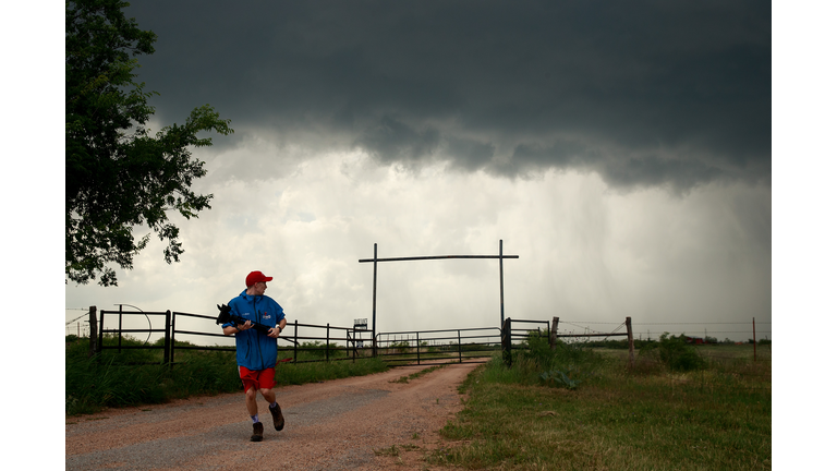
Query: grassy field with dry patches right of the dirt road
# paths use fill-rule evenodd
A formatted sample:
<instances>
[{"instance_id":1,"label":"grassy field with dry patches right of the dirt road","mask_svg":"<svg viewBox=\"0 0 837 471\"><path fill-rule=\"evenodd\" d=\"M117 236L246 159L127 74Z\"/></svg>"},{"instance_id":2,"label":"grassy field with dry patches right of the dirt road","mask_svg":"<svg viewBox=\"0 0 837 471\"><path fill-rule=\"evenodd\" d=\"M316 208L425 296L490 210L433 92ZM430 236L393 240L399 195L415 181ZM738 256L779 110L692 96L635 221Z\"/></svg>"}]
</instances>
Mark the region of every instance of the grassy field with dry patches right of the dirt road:
<instances>
[{"instance_id":1,"label":"grassy field with dry patches right of the dirt road","mask_svg":"<svg viewBox=\"0 0 837 471\"><path fill-rule=\"evenodd\" d=\"M497 357L469 375L460 388L469 395L464 409L441 431L450 442L427 454L428 463L771 469L769 351L753 362L752 346L690 350L684 354L699 354L700 367L686 371L646 351L631 370L627 352L559 345L550 354L534 343L515 353L511 367ZM538 371L560 371L575 387L549 383Z\"/></svg>"}]
</instances>

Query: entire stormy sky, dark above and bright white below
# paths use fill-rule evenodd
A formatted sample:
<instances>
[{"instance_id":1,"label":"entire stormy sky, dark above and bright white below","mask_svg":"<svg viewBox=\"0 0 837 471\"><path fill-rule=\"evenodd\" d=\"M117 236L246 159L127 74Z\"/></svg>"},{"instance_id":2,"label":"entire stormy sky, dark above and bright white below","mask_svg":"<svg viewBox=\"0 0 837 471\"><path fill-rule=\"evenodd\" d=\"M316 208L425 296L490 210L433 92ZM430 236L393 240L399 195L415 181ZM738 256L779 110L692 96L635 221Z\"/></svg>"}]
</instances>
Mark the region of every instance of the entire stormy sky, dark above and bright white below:
<instances>
[{"instance_id":1,"label":"entire stormy sky, dark above and bright white below","mask_svg":"<svg viewBox=\"0 0 837 471\"><path fill-rule=\"evenodd\" d=\"M372 321L372 264L496 255L505 316L772 337L769 3L135 1L149 129L209 104L213 194L96 305L217 314L251 270L289 321ZM142 237L149 230L137 227ZM153 237L153 241L156 239ZM377 330L498 326L496 259L380 263ZM126 307L128 310L128 307ZM141 319L143 323L146 321ZM602 323L602 324L590 324ZM214 325L201 324L213 330ZM622 328L623 330L623 328Z\"/></svg>"}]
</instances>

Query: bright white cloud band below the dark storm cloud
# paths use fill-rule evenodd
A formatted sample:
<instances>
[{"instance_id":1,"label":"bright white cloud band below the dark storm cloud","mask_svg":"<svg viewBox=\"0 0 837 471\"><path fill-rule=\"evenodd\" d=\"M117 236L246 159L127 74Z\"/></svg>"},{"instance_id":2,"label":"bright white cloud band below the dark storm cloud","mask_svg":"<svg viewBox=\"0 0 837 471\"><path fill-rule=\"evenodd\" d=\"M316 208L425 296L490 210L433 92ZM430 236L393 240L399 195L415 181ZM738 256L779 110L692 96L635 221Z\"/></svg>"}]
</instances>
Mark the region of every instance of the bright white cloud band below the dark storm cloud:
<instances>
[{"instance_id":1,"label":"bright white cloud band below the dark storm cloud","mask_svg":"<svg viewBox=\"0 0 837 471\"><path fill-rule=\"evenodd\" d=\"M504 263L507 317L771 319L769 233L759 233L769 231L768 188L619 194L595 174L509 180L447 172L444 162L405 171L359 153L308 158L260 180L221 178L262 149L202 156L214 173L198 190L215 194L213 209L180 220L180 263L167 265L161 244L149 244L132 271L118 270L119 288L68 286L66 306L215 315L260 269L275 277L267 293L289 319L350 326L372 321L372 264L357 261L372 257L374 243L378 257L496 254L502 239L504 253L520 256ZM497 261L380 263L378 330L498 325L498 271Z\"/></svg>"}]
</instances>

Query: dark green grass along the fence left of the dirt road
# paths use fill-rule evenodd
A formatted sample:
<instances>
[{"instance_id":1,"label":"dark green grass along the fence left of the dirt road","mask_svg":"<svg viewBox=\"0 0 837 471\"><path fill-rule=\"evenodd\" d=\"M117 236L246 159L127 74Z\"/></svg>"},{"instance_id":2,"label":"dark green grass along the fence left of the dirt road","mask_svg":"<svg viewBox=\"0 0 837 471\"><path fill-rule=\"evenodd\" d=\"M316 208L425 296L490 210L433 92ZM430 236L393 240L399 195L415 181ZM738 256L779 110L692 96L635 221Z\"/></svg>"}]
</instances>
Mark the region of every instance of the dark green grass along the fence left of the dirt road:
<instances>
[{"instance_id":1,"label":"dark green grass along the fence left of the dirt road","mask_svg":"<svg viewBox=\"0 0 837 471\"><path fill-rule=\"evenodd\" d=\"M87 358L89 339L69 340L64 362L68 415L243 390L234 351L182 350L177 352L175 364L170 366L161 364L161 350L132 348L142 347L143 342L130 337L122 338L126 349L121 352L104 350L92 359ZM104 343L116 346L117 339L106 336ZM187 342L178 345L190 346ZM316 357L317 352L302 349L298 360L308 359L306 355ZM302 385L386 370L388 366L377 359L279 363L276 379L278 385Z\"/></svg>"}]
</instances>

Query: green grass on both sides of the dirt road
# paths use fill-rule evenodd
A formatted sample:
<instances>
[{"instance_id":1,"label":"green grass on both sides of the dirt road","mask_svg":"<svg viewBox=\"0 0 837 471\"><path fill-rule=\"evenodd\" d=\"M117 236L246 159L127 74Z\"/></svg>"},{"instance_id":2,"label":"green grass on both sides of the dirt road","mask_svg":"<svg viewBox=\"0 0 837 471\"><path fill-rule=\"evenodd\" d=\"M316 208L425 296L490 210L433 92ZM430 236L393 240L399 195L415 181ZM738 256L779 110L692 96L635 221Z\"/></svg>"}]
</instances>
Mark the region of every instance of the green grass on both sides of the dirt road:
<instances>
[{"instance_id":1,"label":"green grass on both sides of the dirt road","mask_svg":"<svg viewBox=\"0 0 837 471\"><path fill-rule=\"evenodd\" d=\"M624 350L567 343L551 350L532 337L511 367L496 355L468 376L460 386L468 394L463 411L442 428L445 446L425 459L496 470L771 469L769 346L757 346L753 361L752 346L694 348L676 339L646 343L630 369ZM106 350L88 360L85 340L66 348L68 414L241 390L232 352L179 352L169 369L130 364L159 362L161 352L149 350ZM373 359L281 363L277 381L386 369ZM407 450L392 445L375 452L398 459Z\"/></svg>"}]
</instances>

